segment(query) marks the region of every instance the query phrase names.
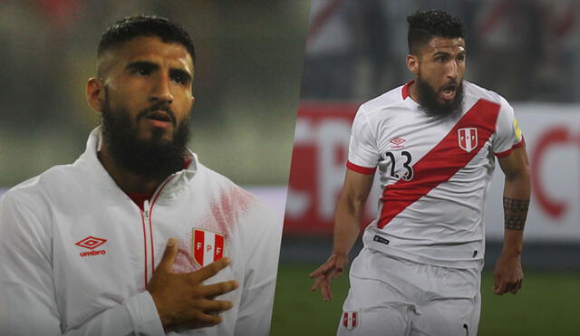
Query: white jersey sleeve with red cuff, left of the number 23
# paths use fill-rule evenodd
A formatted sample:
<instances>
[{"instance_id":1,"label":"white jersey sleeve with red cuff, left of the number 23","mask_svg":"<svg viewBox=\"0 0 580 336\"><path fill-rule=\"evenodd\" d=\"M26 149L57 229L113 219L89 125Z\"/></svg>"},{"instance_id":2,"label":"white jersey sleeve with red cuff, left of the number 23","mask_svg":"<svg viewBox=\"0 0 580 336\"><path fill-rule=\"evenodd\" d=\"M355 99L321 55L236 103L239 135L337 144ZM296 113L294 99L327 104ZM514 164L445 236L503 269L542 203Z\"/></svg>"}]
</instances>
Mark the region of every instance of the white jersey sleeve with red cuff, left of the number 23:
<instances>
[{"instance_id":1,"label":"white jersey sleeve with red cuff, left of the number 23","mask_svg":"<svg viewBox=\"0 0 580 336\"><path fill-rule=\"evenodd\" d=\"M377 168L379 159L376 134L361 106L353 121L346 167L358 173L372 175Z\"/></svg>"}]
</instances>

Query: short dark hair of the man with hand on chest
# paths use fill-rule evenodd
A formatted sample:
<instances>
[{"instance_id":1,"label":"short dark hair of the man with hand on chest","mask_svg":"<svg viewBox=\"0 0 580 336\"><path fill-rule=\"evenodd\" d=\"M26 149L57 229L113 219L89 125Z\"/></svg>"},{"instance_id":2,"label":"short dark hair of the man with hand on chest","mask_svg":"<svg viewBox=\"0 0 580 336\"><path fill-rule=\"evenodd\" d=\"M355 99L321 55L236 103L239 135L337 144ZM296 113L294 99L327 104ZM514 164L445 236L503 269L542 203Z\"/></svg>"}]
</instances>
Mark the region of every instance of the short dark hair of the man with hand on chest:
<instances>
[{"instance_id":1,"label":"short dark hair of the man with hand on chest","mask_svg":"<svg viewBox=\"0 0 580 336\"><path fill-rule=\"evenodd\" d=\"M195 65L196 51L188 32L179 24L158 15L132 15L112 24L101 36L97 58L100 58L102 53L111 47L140 36L156 36L164 43L183 45Z\"/></svg>"}]
</instances>

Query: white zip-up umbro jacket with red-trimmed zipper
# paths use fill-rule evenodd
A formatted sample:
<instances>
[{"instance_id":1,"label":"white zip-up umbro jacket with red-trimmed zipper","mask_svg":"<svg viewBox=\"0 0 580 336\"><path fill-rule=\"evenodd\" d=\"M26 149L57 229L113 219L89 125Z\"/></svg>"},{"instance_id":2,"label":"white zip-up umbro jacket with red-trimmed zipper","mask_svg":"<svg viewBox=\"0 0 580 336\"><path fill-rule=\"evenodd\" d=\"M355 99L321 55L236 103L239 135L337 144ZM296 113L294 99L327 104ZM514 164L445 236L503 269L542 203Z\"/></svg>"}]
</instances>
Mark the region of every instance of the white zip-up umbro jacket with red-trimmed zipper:
<instances>
[{"instance_id":1,"label":"white zip-up umbro jacket with red-trimmed zipper","mask_svg":"<svg viewBox=\"0 0 580 336\"><path fill-rule=\"evenodd\" d=\"M141 211L97 158L99 134L73 165L0 201L0 333L165 335L145 288L174 237L175 272L229 256L207 283L240 285L218 297L234 304L223 322L179 334L267 335L281 235L272 212L192 153Z\"/></svg>"}]
</instances>

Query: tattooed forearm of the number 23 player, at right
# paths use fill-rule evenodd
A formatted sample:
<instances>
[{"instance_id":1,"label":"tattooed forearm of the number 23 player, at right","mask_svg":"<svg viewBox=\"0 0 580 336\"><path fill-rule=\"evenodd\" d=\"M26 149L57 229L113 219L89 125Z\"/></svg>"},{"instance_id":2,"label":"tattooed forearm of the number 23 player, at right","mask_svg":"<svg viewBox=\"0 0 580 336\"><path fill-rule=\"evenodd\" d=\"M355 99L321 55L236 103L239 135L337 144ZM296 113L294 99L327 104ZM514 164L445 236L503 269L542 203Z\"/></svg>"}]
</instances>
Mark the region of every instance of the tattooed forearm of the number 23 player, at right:
<instances>
[{"instance_id":1,"label":"tattooed forearm of the number 23 player, at right","mask_svg":"<svg viewBox=\"0 0 580 336\"><path fill-rule=\"evenodd\" d=\"M519 255L522 252L524 226L529 206L529 170L523 169L506 178L504 187L504 247L503 254Z\"/></svg>"}]
</instances>

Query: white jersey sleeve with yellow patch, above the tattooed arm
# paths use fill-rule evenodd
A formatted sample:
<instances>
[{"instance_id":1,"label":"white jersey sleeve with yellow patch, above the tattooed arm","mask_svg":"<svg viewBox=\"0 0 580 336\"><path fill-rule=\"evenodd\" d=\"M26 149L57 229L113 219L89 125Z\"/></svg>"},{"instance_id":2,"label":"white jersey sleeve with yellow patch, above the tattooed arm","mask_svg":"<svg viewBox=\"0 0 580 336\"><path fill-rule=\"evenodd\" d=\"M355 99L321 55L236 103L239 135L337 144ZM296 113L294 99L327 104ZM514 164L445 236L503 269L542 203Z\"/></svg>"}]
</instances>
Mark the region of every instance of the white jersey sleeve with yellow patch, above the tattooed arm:
<instances>
[{"instance_id":1,"label":"white jersey sleeve with yellow patch, above the tattooed arm","mask_svg":"<svg viewBox=\"0 0 580 336\"><path fill-rule=\"evenodd\" d=\"M501 98L496 136L492 141L492 150L498 158L507 157L512 150L524 144L524 136L514 115L514 109Z\"/></svg>"}]
</instances>

